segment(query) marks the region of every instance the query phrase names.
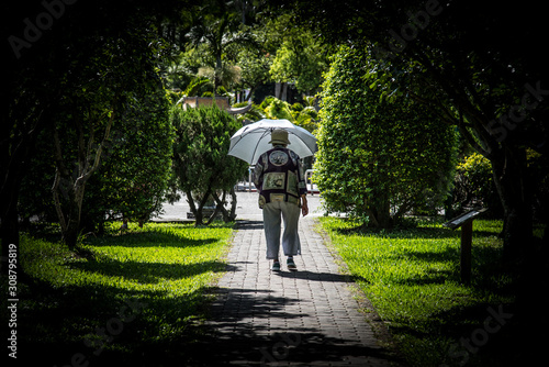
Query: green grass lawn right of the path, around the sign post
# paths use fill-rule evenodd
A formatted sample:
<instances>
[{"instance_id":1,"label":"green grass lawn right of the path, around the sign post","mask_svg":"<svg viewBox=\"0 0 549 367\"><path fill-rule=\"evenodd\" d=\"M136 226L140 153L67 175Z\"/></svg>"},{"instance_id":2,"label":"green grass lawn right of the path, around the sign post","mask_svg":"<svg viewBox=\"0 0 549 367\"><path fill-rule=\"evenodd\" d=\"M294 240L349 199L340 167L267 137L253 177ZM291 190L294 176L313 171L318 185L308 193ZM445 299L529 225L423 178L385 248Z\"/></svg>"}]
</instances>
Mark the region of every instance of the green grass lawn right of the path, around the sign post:
<instances>
[{"instance_id":1,"label":"green grass lawn right of the path, around the sign post","mask_svg":"<svg viewBox=\"0 0 549 367\"><path fill-rule=\"evenodd\" d=\"M474 221L469 286L460 282L460 230L441 221L386 232L321 223L412 366L503 365L497 343L512 329L516 279L501 266L501 221ZM494 312L503 325L493 316L485 324Z\"/></svg>"}]
</instances>

